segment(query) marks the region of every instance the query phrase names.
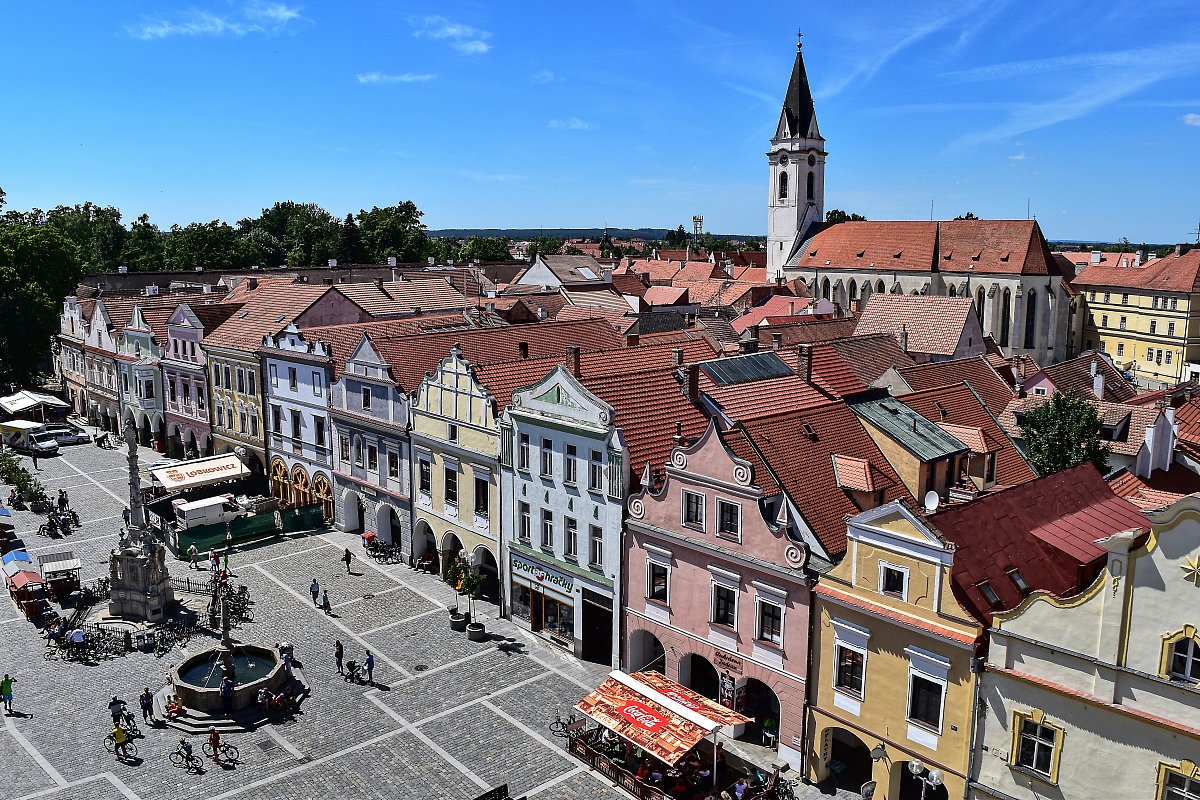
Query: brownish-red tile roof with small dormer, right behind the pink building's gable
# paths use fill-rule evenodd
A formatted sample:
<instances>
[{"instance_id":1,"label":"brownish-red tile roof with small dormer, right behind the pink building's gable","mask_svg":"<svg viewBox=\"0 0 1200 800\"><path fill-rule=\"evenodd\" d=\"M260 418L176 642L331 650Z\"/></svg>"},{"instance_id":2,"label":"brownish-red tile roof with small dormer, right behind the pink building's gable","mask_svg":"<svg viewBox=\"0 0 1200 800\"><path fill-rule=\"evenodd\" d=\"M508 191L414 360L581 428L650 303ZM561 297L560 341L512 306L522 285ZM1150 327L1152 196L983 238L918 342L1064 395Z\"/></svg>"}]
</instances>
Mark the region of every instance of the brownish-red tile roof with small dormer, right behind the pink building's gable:
<instances>
[{"instance_id":1,"label":"brownish-red tile roof with small dormer, right behind the pink building's gable","mask_svg":"<svg viewBox=\"0 0 1200 800\"><path fill-rule=\"evenodd\" d=\"M851 495L838 487L833 456L870 462L887 479L884 503L913 499L858 417L841 401L746 420L739 427L799 509L817 541L834 558L846 552L846 516L865 509L859 509Z\"/></svg>"}]
</instances>

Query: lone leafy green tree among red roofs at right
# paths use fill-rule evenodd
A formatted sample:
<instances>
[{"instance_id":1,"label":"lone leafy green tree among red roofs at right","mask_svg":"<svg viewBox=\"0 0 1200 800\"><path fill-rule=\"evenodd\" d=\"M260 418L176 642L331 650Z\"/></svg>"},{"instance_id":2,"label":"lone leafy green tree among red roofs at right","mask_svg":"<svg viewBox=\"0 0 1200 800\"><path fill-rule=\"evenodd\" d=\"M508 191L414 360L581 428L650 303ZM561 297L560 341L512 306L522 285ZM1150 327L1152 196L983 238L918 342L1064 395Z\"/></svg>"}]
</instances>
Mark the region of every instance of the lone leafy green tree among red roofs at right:
<instances>
[{"instance_id":1,"label":"lone leafy green tree among red roofs at right","mask_svg":"<svg viewBox=\"0 0 1200 800\"><path fill-rule=\"evenodd\" d=\"M1060 473L1090 461L1100 474L1109 471L1109 445L1100 440L1096 405L1075 390L1055 392L1020 420L1026 458L1039 475Z\"/></svg>"}]
</instances>

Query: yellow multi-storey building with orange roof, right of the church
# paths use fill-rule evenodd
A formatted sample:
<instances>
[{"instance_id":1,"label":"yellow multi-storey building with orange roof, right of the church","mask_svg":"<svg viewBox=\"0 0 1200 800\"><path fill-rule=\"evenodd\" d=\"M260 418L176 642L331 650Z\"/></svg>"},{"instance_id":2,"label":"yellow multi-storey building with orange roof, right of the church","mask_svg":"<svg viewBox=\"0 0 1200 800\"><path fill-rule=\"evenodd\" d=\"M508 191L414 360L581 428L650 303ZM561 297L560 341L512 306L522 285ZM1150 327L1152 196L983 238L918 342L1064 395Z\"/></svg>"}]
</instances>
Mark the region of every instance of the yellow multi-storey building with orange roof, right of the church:
<instances>
[{"instance_id":1,"label":"yellow multi-storey building with orange roof, right of the church","mask_svg":"<svg viewBox=\"0 0 1200 800\"><path fill-rule=\"evenodd\" d=\"M1098 255L1072 282L1087 308L1084 349L1152 389L1200 372L1200 249L1141 264L1132 253Z\"/></svg>"}]
</instances>

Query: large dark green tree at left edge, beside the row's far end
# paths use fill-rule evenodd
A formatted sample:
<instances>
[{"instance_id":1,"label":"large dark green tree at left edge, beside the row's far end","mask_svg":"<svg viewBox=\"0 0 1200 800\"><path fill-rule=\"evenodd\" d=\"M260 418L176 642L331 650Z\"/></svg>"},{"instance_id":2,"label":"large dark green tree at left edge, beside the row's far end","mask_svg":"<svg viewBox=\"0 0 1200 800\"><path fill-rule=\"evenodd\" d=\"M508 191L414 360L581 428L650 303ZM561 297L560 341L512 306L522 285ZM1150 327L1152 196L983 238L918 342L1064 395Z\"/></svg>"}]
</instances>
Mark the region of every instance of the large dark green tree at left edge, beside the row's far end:
<instances>
[{"instance_id":1,"label":"large dark green tree at left edge, beside the row's far end","mask_svg":"<svg viewBox=\"0 0 1200 800\"><path fill-rule=\"evenodd\" d=\"M0 227L0 377L31 380L59 331L62 297L85 275L79 248L58 228Z\"/></svg>"}]
</instances>

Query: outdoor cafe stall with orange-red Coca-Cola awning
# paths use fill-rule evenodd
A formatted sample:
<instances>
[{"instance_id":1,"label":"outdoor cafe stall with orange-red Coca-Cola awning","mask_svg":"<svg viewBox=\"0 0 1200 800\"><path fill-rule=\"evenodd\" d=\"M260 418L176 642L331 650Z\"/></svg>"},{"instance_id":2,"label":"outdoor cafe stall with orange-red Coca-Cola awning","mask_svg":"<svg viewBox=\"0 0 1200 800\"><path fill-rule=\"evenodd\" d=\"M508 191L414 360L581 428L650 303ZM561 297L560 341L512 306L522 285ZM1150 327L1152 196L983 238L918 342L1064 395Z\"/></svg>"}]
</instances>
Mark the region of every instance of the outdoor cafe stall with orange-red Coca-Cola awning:
<instances>
[{"instance_id":1,"label":"outdoor cafe stall with orange-red Coca-Cola awning","mask_svg":"<svg viewBox=\"0 0 1200 800\"><path fill-rule=\"evenodd\" d=\"M572 735L571 754L646 800L718 786L716 733L750 721L654 672L613 670L575 708L599 728Z\"/></svg>"}]
</instances>

